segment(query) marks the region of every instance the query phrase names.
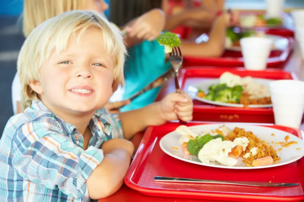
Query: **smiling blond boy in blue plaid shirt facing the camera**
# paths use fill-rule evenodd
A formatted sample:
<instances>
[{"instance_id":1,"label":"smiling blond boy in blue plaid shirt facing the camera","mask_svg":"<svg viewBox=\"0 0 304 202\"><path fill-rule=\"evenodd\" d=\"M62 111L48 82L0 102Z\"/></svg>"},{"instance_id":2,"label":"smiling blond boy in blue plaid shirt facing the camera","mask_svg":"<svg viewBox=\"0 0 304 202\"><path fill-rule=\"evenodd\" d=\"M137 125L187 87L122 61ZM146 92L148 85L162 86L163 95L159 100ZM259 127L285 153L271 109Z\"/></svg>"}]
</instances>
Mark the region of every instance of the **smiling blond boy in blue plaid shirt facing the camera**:
<instances>
[{"instance_id":1,"label":"smiling blond boy in blue plaid shirt facing the camera","mask_svg":"<svg viewBox=\"0 0 304 202\"><path fill-rule=\"evenodd\" d=\"M0 140L4 201L110 196L123 183L133 134L192 119L185 93L119 116L98 110L123 84L125 53L122 37L95 12L69 11L29 35L18 58L27 108L8 121Z\"/></svg>"}]
</instances>

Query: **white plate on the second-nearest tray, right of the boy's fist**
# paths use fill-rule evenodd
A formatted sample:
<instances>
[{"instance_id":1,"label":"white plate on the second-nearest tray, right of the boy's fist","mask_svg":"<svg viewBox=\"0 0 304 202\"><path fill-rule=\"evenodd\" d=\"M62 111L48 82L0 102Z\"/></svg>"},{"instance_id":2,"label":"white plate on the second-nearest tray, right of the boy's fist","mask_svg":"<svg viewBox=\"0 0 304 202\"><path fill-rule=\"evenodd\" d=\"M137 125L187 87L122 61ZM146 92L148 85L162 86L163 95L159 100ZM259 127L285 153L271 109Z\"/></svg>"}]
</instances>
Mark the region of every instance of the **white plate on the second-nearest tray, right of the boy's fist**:
<instances>
[{"instance_id":1,"label":"white plate on the second-nearest tray, right of the boy's fist","mask_svg":"<svg viewBox=\"0 0 304 202\"><path fill-rule=\"evenodd\" d=\"M262 85L265 85L265 86L269 86L270 82L274 81L274 80L271 80L271 79L256 79L256 78L253 78L253 80L255 82L257 82L259 84L262 84ZM219 79L210 79L210 80L202 81L200 83L197 83L197 84L194 84L192 86L189 86L188 87L188 93L192 97L194 97L196 100L199 100L199 101L202 101L202 102L205 102L205 103L209 103L209 104L212 104L212 105L219 105L219 106L226 106L226 107L244 107L244 105L241 105L241 104L231 104L231 103L216 102L216 101L207 100L207 99L204 99L204 98L196 96L198 88L202 89L207 94L208 87L210 85L219 84L219 83L220 83ZM272 107L272 104L270 104L270 105L248 105L248 107L249 108L269 108L269 107Z\"/></svg>"}]
</instances>

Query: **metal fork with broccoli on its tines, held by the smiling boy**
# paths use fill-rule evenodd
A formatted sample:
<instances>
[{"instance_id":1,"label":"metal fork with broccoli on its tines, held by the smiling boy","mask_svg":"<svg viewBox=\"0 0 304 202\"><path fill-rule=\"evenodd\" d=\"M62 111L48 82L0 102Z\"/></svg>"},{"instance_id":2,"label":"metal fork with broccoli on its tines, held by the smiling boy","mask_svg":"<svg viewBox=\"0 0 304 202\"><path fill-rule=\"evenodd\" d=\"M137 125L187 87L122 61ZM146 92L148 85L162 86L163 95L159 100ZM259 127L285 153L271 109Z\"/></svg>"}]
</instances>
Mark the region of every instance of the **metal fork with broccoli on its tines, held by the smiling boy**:
<instances>
[{"instance_id":1,"label":"metal fork with broccoli on its tines, held by the smiling boy","mask_svg":"<svg viewBox=\"0 0 304 202\"><path fill-rule=\"evenodd\" d=\"M169 55L169 60L172 64L174 70L174 83L175 83L175 92L181 93L181 88L178 82L179 71L183 63L183 55L181 53L180 47L173 47L172 53Z\"/></svg>"}]
</instances>

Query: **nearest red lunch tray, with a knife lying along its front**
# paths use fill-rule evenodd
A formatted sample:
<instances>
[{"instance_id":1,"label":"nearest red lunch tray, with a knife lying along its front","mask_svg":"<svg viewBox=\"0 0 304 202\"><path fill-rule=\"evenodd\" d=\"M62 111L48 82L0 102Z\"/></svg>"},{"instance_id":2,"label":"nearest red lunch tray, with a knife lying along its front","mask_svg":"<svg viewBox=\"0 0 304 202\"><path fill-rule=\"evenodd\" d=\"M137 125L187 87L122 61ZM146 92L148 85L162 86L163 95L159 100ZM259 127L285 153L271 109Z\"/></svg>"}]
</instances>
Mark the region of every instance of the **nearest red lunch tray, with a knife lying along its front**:
<instances>
[{"instance_id":1,"label":"nearest red lunch tray, with a knife lying along its front","mask_svg":"<svg viewBox=\"0 0 304 202\"><path fill-rule=\"evenodd\" d=\"M189 126L206 124L189 122ZM234 170L196 165L165 154L159 140L180 124L166 123L149 127L125 176L125 184L145 195L179 197L220 201L301 201L304 200L304 159L273 168ZM267 125L302 138L300 131L292 128ZM172 145L174 146L174 145ZM199 178L206 180L235 180L299 183L297 187L245 187L195 183L154 183L154 176Z\"/></svg>"}]
</instances>

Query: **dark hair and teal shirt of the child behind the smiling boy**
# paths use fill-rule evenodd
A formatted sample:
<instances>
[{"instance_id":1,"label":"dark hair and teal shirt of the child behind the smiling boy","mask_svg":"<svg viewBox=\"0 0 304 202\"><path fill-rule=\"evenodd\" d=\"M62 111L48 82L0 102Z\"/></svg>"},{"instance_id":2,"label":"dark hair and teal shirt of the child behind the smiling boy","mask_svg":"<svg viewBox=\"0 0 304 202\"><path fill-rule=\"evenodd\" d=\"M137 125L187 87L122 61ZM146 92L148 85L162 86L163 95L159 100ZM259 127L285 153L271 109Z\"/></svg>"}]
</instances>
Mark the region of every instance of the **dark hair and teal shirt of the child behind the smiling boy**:
<instances>
[{"instance_id":1,"label":"dark hair and teal shirt of the child behind the smiling boy","mask_svg":"<svg viewBox=\"0 0 304 202\"><path fill-rule=\"evenodd\" d=\"M144 16L153 9L161 9L163 0L112 0L110 1L110 21L118 27L132 26L136 18ZM153 16L149 16L153 18ZM153 19L146 18L148 22ZM131 23L129 23L131 21ZM158 22L154 22L157 24ZM160 24L160 23L158 23ZM163 28L163 27L162 27ZM142 40L144 39L144 40ZM151 39L151 38L150 38ZM157 40L136 40L138 43L128 44L128 56L124 67L125 87L123 100L130 98L134 93L143 89L147 84L158 78L171 68L165 63L164 46ZM129 105L121 108L121 112L142 108L154 102L161 87L154 88L134 99Z\"/></svg>"}]
</instances>

